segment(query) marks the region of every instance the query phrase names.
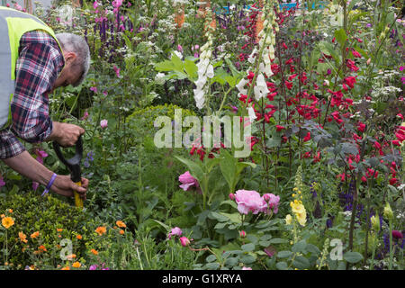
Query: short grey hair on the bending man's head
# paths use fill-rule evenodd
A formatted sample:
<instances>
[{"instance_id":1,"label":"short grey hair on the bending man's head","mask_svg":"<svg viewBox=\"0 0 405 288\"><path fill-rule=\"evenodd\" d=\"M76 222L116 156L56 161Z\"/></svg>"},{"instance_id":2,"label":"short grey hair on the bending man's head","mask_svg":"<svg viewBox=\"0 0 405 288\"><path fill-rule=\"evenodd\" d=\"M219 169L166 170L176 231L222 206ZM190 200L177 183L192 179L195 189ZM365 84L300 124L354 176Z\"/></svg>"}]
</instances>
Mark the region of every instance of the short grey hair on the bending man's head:
<instances>
[{"instance_id":1,"label":"short grey hair on the bending man's head","mask_svg":"<svg viewBox=\"0 0 405 288\"><path fill-rule=\"evenodd\" d=\"M77 55L73 66L79 67L82 75L76 83L72 83L76 87L85 80L88 68L90 67L90 49L88 48L88 44L83 37L72 33L58 33L55 36L64 52L74 52Z\"/></svg>"}]
</instances>

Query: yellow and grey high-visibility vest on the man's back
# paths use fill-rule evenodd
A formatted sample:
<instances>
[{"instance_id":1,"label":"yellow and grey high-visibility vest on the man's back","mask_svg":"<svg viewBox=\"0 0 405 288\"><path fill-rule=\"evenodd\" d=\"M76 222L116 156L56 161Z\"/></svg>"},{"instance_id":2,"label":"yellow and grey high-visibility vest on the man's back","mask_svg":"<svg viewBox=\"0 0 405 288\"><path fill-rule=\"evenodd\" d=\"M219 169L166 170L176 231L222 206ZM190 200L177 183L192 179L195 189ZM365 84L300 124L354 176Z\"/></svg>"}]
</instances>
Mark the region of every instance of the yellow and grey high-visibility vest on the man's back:
<instances>
[{"instance_id":1,"label":"yellow and grey high-visibility vest on the man's back","mask_svg":"<svg viewBox=\"0 0 405 288\"><path fill-rule=\"evenodd\" d=\"M34 30L47 31L58 43L54 31L37 17L0 6L0 129L11 123L20 39L25 32Z\"/></svg>"}]
</instances>

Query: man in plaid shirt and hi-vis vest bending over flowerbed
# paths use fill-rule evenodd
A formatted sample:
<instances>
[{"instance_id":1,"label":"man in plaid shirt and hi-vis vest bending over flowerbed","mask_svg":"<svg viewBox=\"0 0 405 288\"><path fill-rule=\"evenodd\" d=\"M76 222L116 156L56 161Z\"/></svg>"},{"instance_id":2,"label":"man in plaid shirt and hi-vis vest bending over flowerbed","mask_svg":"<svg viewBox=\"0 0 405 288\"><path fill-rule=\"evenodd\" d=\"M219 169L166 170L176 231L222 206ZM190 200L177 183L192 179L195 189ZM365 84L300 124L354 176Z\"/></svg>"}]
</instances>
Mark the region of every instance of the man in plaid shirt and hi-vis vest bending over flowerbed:
<instances>
[{"instance_id":1,"label":"man in plaid shirt and hi-vis vest bending over flowerbed","mask_svg":"<svg viewBox=\"0 0 405 288\"><path fill-rule=\"evenodd\" d=\"M54 175L31 157L20 137L31 143L76 144L79 126L51 121L48 94L59 86L79 85L90 51L82 37L54 32L38 18L0 6L0 158L7 166L55 193L85 200L88 180L74 184L69 175Z\"/></svg>"}]
</instances>

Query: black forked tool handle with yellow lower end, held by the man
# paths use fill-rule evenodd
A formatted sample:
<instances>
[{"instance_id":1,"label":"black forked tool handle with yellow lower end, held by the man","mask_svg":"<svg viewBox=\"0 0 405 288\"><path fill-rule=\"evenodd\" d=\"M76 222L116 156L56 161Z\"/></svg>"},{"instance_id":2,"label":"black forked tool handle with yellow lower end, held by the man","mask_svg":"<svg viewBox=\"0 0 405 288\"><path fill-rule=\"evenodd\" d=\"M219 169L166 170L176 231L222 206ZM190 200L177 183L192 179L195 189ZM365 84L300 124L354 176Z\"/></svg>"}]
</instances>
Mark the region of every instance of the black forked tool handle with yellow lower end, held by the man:
<instances>
[{"instance_id":1,"label":"black forked tool handle with yellow lower end, held by the man","mask_svg":"<svg viewBox=\"0 0 405 288\"><path fill-rule=\"evenodd\" d=\"M55 149L55 152L59 158L60 161L62 161L65 166L70 171L70 179L76 184L81 186L82 185L82 172L80 170L80 161L82 160L83 157L83 142L82 142L82 136L79 136L79 138L76 141L76 154L74 157L71 157L70 159L66 159L63 157L62 151L60 150L60 146L58 142L53 141L53 148ZM83 199L80 198L80 194L74 191L75 195L75 205L76 207L83 208Z\"/></svg>"}]
</instances>

